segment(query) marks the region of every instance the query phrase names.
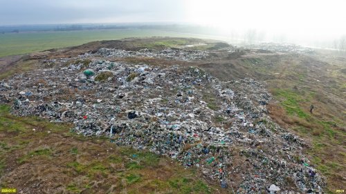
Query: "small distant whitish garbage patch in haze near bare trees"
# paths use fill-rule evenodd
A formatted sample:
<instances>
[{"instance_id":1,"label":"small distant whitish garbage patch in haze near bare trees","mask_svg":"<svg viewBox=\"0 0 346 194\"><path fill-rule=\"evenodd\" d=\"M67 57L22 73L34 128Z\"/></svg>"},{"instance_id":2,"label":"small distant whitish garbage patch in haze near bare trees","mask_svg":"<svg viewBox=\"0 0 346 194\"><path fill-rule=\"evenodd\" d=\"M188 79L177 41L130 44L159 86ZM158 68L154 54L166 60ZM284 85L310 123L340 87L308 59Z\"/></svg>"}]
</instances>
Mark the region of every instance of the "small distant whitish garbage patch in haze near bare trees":
<instances>
[{"instance_id":1,"label":"small distant whitish garbage patch in haze near bare trees","mask_svg":"<svg viewBox=\"0 0 346 194\"><path fill-rule=\"evenodd\" d=\"M313 54L312 48L298 46L292 43L259 43L245 46L248 49L270 50L272 52L294 52L298 54Z\"/></svg>"}]
</instances>

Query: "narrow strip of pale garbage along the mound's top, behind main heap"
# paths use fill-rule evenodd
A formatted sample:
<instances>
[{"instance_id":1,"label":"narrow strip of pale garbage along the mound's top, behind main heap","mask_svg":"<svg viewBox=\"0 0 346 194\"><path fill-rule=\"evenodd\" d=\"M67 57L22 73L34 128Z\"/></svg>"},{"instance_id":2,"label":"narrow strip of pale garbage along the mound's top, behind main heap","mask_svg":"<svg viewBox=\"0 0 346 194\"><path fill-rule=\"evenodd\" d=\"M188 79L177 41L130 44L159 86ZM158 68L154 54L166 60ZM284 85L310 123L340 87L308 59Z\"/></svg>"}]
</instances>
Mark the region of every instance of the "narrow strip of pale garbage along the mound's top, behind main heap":
<instances>
[{"instance_id":1,"label":"narrow strip of pale garbage along the mound's top, behind main heap","mask_svg":"<svg viewBox=\"0 0 346 194\"><path fill-rule=\"evenodd\" d=\"M185 50L179 48L167 48L165 50L154 50L144 48L138 51L119 50L113 48L101 48L96 55L102 57L151 57L161 59L174 59L178 61L195 61L206 59L208 52L201 50Z\"/></svg>"}]
</instances>

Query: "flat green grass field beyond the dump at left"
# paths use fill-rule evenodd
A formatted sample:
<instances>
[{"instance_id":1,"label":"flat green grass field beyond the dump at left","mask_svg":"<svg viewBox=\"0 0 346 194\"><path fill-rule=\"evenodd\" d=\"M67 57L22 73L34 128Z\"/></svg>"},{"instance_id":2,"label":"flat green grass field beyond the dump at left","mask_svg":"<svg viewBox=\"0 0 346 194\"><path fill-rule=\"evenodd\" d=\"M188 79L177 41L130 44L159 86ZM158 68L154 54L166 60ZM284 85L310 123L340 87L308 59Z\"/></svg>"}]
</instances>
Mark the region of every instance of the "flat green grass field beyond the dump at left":
<instances>
[{"instance_id":1,"label":"flat green grass field beyond the dump at left","mask_svg":"<svg viewBox=\"0 0 346 194\"><path fill-rule=\"evenodd\" d=\"M124 39L130 37L188 37L176 32L160 30L79 30L63 32L21 32L0 35L0 57L30 52L78 46L90 41Z\"/></svg>"}]
</instances>

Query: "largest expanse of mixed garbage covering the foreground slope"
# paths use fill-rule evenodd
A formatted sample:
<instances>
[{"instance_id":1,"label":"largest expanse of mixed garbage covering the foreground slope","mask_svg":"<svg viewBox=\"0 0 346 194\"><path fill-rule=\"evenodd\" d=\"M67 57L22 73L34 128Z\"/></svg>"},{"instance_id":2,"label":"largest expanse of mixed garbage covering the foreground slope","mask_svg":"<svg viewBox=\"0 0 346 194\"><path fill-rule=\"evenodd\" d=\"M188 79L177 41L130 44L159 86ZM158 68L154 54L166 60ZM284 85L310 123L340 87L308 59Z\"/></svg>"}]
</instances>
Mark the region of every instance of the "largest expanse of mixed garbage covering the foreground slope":
<instances>
[{"instance_id":1,"label":"largest expanse of mixed garbage covering the foreground slope","mask_svg":"<svg viewBox=\"0 0 346 194\"><path fill-rule=\"evenodd\" d=\"M302 139L268 117L271 95L260 82L220 81L195 67L75 59L1 81L0 103L11 103L15 115L71 122L75 133L178 159L230 192L323 193Z\"/></svg>"}]
</instances>

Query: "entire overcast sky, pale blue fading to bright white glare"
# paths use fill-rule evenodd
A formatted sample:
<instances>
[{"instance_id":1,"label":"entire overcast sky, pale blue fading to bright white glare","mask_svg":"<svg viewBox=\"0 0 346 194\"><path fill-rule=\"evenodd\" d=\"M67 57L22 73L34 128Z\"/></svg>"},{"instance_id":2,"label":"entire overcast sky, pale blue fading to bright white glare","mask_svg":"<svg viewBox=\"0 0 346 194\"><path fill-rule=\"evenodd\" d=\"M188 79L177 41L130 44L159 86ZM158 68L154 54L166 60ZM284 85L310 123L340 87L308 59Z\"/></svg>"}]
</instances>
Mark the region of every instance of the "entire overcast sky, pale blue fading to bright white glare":
<instances>
[{"instance_id":1,"label":"entire overcast sky, pale blue fading to bright white glare","mask_svg":"<svg viewBox=\"0 0 346 194\"><path fill-rule=\"evenodd\" d=\"M346 34L345 0L0 0L0 25L197 23L295 36Z\"/></svg>"}]
</instances>

